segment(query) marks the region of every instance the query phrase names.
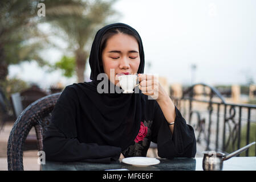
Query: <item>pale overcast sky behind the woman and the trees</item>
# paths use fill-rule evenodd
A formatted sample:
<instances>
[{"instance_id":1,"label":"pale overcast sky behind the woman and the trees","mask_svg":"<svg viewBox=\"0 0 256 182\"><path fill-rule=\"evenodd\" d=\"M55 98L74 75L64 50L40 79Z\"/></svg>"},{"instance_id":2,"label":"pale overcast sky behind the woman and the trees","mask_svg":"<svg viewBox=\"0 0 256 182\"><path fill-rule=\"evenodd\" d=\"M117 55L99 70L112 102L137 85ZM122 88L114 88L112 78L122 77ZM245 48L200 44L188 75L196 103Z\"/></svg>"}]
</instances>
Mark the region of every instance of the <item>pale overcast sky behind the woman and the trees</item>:
<instances>
[{"instance_id":1,"label":"pale overcast sky behind the woman and the trees","mask_svg":"<svg viewBox=\"0 0 256 182\"><path fill-rule=\"evenodd\" d=\"M145 73L164 76L169 84L190 84L196 64L194 82L245 84L249 77L256 82L255 0L119 0L114 8L122 15L118 22L135 28L143 40L145 61L151 63ZM44 54L52 63L62 56L54 49ZM89 65L86 69L90 76ZM44 88L76 81L35 63L11 66L9 72Z\"/></svg>"}]
</instances>

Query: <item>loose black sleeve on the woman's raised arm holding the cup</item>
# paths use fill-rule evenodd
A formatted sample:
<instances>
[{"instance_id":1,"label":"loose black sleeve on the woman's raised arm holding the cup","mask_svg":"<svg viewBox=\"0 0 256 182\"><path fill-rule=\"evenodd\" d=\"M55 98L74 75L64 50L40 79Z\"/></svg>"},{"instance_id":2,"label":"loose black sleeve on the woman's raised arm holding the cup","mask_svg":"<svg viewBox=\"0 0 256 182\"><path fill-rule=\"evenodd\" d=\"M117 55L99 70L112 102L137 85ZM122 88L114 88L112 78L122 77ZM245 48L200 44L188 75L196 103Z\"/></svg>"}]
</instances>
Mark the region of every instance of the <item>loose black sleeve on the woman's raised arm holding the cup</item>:
<instances>
[{"instance_id":1,"label":"loose black sleeve on the woman's raised arm holding the cup","mask_svg":"<svg viewBox=\"0 0 256 182\"><path fill-rule=\"evenodd\" d=\"M157 143L158 155L161 158L194 158L196 155L196 137L193 127L186 124L176 106L175 111L176 118L172 134L161 107L156 102L152 142Z\"/></svg>"}]
</instances>

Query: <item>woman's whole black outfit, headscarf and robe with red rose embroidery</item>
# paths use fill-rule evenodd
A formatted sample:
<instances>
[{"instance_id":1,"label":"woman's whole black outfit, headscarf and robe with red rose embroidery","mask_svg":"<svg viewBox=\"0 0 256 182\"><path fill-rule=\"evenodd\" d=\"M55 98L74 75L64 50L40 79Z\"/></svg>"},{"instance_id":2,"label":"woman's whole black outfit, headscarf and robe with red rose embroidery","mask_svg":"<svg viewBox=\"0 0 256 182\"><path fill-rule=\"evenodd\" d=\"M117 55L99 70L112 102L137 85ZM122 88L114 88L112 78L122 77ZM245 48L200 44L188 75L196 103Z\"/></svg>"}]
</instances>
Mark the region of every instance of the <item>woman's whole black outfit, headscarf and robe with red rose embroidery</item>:
<instances>
[{"instance_id":1,"label":"woman's whole black outfit, headscarf and robe with red rose embroidery","mask_svg":"<svg viewBox=\"0 0 256 182\"><path fill-rule=\"evenodd\" d=\"M148 100L141 91L132 94L97 92L99 80L96 77L102 70L99 44L105 31L112 27L129 28L139 36L136 30L123 23L109 24L97 32L89 60L92 82L69 85L63 90L44 133L46 160L108 163L119 159L121 152L125 157L146 156L151 141L157 143L162 158L194 157L194 130L177 108L172 134L159 104ZM137 73L143 73L144 51L139 40ZM112 83L108 81L108 84Z\"/></svg>"}]
</instances>

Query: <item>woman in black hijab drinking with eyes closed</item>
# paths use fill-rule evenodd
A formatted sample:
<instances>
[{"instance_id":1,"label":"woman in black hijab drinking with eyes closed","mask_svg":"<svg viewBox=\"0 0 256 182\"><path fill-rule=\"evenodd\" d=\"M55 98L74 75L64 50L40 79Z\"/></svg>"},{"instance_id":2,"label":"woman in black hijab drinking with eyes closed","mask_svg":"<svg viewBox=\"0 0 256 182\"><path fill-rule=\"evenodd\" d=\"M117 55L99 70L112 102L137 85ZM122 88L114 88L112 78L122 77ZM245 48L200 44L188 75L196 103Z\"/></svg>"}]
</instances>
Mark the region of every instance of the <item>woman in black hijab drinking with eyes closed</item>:
<instances>
[{"instance_id":1,"label":"woman in black hijab drinking with eyes closed","mask_svg":"<svg viewBox=\"0 0 256 182\"><path fill-rule=\"evenodd\" d=\"M195 156L193 128L157 78L143 74L143 44L135 29L124 23L101 28L89 62L92 81L67 86L54 107L43 139L46 160L109 163L146 156L151 141L162 158ZM99 93L100 73L107 75L108 92ZM139 93L111 90L119 87L111 73L139 73Z\"/></svg>"}]
</instances>

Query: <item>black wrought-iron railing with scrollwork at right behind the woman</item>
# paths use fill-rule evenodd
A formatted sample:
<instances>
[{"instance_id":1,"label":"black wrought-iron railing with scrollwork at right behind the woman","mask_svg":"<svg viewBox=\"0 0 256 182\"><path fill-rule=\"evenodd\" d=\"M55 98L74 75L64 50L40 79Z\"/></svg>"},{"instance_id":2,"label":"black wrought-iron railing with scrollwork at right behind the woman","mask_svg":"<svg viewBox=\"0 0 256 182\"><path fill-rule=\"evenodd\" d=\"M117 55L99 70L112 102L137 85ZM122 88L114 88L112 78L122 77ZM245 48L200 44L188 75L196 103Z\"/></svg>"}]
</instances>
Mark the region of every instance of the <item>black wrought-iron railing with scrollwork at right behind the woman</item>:
<instances>
[{"instance_id":1,"label":"black wrought-iron railing with scrollwork at right behind the woman","mask_svg":"<svg viewBox=\"0 0 256 182\"><path fill-rule=\"evenodd\" d=\"M203 88L200 94L194 92L197 85ZM250 135L251 125L256 125L256 105L227 103L216 88L202 83L190 86L181 98L171 98L188 124L193 126L197 143L204 146L204 150L227 153L227 150L235 151L256 140L256 136ZM200 106L195 107L196 104ZM242 129L246 129L243 146ZM256 146L253 155L256 156ZM249 150L246 156L249 156Z\"/></svg>"}]
</instances>

